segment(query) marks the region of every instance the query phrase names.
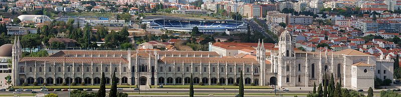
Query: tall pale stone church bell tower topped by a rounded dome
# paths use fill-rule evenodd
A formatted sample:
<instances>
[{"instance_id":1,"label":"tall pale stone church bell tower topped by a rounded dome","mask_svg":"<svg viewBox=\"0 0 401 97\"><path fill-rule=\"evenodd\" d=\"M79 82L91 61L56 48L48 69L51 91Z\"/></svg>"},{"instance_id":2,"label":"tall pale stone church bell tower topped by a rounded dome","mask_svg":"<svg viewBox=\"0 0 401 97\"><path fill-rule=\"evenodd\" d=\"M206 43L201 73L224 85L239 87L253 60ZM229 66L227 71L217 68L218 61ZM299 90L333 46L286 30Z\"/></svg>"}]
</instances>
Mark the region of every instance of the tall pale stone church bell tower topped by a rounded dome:
<instances>
[{"instance_id":1,"label":"tall pale stone church bell tower topped by a rounded dome","mask_svg":"<svg viewBox=\"0 0 401 97\"><path fill-rule=\"evenodd\" d=\"M295 53L292 34L288 28L281 32L278 42L277 55L277 85L295 86Z\"/></svg>"}]
</instances>

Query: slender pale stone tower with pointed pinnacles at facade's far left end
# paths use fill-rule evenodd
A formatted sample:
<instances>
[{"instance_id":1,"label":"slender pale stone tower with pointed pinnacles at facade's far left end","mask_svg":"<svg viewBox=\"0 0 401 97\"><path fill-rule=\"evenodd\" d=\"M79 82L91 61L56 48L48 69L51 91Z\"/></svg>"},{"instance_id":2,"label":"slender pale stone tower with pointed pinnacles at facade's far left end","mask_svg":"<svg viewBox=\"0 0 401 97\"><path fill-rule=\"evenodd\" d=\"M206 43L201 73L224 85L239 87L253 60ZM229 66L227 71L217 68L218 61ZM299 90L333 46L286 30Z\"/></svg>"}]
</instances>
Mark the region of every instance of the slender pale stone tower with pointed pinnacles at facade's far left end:
<instances>
[{"instance_id":1,"label":"slender pale stone tower with pointed pinnacles at facade's far left end","mask_svg":"<svg viewBox=\"0 0 401 97\"><path fill-rule=\"evenodd\" d=\"M20 59L21 59L21 53L22 53L22 50L21 50L21 44L20 44L20 37L15 37L14 38L14 45L13 45L13 52L12 52L12 54L13 54L13 56L12 56L12 69L14 70L14 71L12 71L12 84L13 85L19 85L18 84L18 82L19 82L19 74L18 74L18 72L20 71L20 68L18 68L18 62L20 61Z\"/></svg>"}]
</instances>

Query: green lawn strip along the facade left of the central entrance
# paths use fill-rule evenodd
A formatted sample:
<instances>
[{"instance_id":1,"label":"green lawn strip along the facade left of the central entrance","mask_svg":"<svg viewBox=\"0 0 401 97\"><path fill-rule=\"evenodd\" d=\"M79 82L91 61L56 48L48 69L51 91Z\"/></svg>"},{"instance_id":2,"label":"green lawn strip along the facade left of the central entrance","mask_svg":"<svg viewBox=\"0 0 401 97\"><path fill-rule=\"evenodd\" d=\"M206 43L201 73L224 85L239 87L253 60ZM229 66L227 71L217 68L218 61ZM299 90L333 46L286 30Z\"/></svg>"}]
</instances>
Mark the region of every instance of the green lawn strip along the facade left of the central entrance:
<instances>
[{"instance_id":1,"label":"green lawn strip along the facade left of the central entrance","mask_svg":"<svg viewBox=\"0 0 401 97\"><path fill-rule=\"evenodd\" d=\"M41 86L14 86L14 88L30 88L30 89L39 89ZM62 86L62 85L48 85L46 86L47 88L69 88L68 85L66 86ZM106 88L110 88L111 85L106 85ZM117 87L123 87L123 88L135 88L135 85L117 85ZM100 85L75 85L75 86L71 86L71 88L100 88Z\"/></svg>"}]
</instances>

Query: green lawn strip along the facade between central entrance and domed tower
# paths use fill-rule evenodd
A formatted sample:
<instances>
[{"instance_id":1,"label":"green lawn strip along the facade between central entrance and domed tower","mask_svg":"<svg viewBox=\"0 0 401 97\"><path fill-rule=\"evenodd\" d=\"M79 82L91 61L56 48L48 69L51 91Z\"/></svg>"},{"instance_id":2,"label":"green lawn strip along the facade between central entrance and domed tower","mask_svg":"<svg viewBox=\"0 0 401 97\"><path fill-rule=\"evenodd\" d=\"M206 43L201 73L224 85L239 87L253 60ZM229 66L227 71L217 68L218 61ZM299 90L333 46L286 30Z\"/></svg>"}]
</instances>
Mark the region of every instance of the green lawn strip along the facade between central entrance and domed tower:
<instances>
[{"instance_id":1,"label":"green lawn strip along the facade between central entrance and domed tower","mask_svg":"<svg viewBox=\"0 0 401 97\"><path fill-rule=\"evenodd\" d=\"M163 85L163 88L189 88L189 85ZM239 88L239 86L234 85L193 85L193 88ZM270 86L251 86L245 85L246 89L272 89Z\"/></svg>"}]
</instances>

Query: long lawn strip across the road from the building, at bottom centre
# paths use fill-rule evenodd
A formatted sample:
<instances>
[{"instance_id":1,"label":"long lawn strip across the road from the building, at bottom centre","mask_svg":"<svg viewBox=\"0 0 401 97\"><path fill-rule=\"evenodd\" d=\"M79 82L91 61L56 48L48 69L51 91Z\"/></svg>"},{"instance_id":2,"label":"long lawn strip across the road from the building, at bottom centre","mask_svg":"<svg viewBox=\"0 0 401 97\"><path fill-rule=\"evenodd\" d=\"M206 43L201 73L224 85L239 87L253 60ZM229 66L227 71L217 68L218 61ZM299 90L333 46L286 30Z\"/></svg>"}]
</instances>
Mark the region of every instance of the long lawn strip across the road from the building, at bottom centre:
<instances>
[{"instance_id":1,"label":"long lawn strip across the road from the building, at bottom centre","mask_svg":"<svg viewBox=\"0 0 401 97\"><path fill-rule=\"evenodd\" d=\"M128 93L128 95L189 95L189 93L178 93L178 92L172 92L172 93ZM236 95L238 93L194 93L194 95ZM307 93L281 93L283 95L289 95L289 96L294 96L294 95L307 95ZM274 95L274 93L245 93L245 95Z\"/></svg>"}]
</instances>

